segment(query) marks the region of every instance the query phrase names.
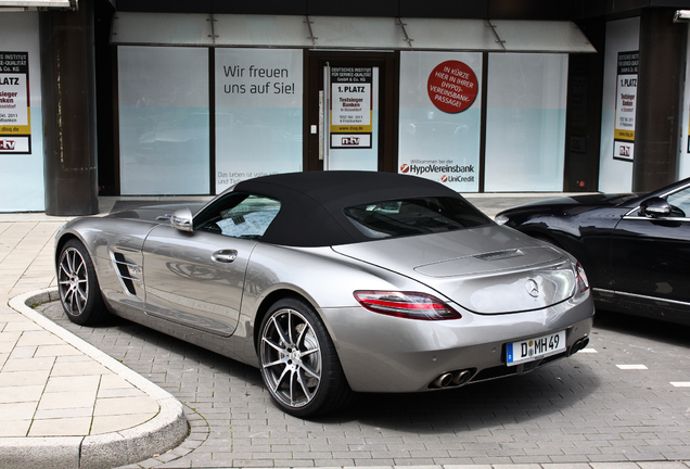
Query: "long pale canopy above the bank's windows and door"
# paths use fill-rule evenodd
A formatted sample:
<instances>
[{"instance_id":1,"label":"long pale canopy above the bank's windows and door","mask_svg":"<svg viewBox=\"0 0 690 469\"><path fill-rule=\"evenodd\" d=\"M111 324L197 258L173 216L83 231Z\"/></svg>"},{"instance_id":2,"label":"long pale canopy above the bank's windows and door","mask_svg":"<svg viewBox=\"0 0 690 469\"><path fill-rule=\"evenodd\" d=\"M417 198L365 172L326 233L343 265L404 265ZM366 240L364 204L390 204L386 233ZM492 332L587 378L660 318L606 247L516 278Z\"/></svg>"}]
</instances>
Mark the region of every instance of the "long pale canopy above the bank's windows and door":
<instances>
[{"instance_id":1,"label":"long pale canopy above the bank's windows and door","mask_svg":"<svg viewBox=\"0 0 690 469\"><path fill-rule=\"evenodd\" d=\"M572 22L130 12L115 13L112 43L596 52L584 33Z\"/></svg>"}]
</instances>

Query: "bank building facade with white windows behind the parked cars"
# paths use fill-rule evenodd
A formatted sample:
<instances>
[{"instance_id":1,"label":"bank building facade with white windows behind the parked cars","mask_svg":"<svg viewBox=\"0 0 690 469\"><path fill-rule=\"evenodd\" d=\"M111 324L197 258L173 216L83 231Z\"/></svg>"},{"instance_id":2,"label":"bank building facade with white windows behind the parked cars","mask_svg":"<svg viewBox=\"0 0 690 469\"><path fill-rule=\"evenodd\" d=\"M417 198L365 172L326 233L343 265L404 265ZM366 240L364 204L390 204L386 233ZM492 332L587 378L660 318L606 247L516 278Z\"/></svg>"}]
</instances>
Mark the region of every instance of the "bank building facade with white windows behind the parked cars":
<instances>
[{"instance_id":1,"label":"bank building facade with white windows behind the parked cars","mask_svg":"<svg viewBox=\"0 0 690 469\"><path fill-rule=\"evenodd\" d=\"M0 212L303 170L462 193L690 176L690 0L447 3L2 0Z\"/></svg>"}]
</instances>

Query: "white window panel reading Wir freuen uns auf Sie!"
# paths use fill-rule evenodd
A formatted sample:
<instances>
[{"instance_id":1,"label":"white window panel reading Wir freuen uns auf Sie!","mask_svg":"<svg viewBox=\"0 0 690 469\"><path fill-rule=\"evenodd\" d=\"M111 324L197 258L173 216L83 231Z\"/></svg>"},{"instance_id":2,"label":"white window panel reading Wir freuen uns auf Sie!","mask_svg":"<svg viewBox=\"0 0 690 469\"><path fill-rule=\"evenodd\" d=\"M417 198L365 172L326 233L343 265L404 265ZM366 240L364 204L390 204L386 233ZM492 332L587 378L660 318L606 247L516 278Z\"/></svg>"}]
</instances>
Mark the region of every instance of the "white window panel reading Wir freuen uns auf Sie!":
<instances>
[{"instance_id":1,"label":"white window panel reading Wir freuen uns auf Sie!","mask_svg":"<svg viewBox=\"0 0 690 469\"><path fill-rule=\"evenodd\" d=\"M302 170L303 52L216 49L216 191Z\"/></svg>"}]
</instances>

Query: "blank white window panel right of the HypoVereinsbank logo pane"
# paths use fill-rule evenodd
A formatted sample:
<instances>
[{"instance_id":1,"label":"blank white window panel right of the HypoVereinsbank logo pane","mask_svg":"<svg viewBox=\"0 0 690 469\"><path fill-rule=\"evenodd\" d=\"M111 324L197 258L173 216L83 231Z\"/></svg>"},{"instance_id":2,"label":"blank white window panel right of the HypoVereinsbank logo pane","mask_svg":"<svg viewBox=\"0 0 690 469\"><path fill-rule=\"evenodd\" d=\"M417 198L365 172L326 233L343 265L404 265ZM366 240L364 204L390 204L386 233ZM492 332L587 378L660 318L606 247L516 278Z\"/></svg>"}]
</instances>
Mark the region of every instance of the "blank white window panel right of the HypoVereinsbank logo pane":
<instances>
[{"instance_id":1,"label":"blank white window panel right of the HypoVereinsbank logo pane","mask_svg":"<svg viewBox=\"0 0 690 469\"><path fill-rule=\"evenodd\" d=\"M560 192L567 55L489 54L486 192Z\"/></svg>"}]
</instances>

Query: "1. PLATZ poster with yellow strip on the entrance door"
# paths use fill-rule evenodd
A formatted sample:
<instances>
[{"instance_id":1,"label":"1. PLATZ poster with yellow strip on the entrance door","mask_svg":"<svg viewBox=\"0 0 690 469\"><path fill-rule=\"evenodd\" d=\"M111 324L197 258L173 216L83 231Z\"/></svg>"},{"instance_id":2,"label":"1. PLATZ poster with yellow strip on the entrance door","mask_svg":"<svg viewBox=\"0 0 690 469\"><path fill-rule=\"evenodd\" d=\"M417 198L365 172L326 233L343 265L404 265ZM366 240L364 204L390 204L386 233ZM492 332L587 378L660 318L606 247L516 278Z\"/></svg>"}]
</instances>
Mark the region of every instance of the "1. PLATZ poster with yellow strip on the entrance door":
<instances>
[{"instance_id":1,"label":"1. PLATZ poster with yellow strip on the entrance door","mask_svg":"<svg viewBox=\"0 0 690 469\"><path fill-rule=\"evenodd\" d=\"M331 67L331 148L370 149L372 67Z\"/></svg>"}]
</instances>

